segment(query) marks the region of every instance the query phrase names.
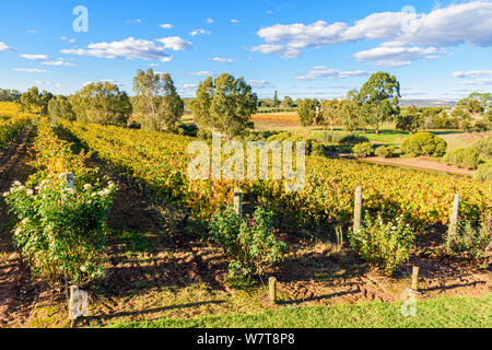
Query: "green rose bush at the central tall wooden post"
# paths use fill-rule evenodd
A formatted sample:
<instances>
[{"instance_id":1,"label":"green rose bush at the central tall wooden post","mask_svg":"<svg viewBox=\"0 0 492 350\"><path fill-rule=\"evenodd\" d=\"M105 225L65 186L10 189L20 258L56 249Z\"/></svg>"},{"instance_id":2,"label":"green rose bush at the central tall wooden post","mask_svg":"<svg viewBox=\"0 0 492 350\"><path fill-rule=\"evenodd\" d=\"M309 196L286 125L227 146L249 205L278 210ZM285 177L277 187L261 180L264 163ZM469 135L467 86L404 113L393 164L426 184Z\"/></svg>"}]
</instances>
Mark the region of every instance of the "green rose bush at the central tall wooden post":
<instances>
[{"instance_id":1,"label":"green rose bush at the central tall wooden post","mask_svg":"<svg viewBox=\"0 0 492 350\"><path fill-rule=\"evenodd\" d=\"M263 273L282 259L286 245L276 237L273 213L258 207L253 217L241 217L232 208L214 214L210 237L222 247L230 276Z\"/></svg>"}]
</instances>

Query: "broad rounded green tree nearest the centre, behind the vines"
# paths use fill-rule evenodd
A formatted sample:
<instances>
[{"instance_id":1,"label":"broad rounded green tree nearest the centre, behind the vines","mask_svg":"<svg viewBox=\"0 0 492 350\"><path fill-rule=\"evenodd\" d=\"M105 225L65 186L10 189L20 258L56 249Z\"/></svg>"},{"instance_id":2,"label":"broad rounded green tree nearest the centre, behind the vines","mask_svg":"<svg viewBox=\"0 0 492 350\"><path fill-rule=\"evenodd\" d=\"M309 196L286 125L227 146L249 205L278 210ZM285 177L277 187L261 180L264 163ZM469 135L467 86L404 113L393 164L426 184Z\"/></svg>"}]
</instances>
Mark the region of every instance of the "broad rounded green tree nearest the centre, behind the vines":
<instances>
[{"instance_id":1,"label":"broad rounded green tree nearest the centre, behind the vines","mask_svg":"<svg viewBox=\"0 0 492 350\"><path fill-rule=\"evenodd\" d=\"M248 127L258 109L258 97L244 78L222 73L200 82L190 107L200 129L220 131L232 139Z\"/></svg>"}]
</instances>

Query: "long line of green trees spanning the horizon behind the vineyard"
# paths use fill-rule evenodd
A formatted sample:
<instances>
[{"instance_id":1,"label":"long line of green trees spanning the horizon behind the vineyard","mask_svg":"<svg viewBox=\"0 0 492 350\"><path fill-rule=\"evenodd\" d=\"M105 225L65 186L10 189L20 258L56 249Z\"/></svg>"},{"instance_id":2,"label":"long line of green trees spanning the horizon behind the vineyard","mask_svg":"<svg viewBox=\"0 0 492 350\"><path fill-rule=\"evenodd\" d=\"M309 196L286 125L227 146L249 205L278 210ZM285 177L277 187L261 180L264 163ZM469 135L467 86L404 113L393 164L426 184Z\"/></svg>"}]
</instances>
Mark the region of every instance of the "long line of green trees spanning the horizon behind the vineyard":
<instances>
[{"instance_id":1,"label":"long line of green trees spanning the horizon behind the vineyard","mask_svg":"<svg viewBox=\"0 0 492 350\"><path fill-rule=\"evenodd\" d=\"M19 92L5 93L13 97ZM1 95L1 94L0 94ZM341 100L297 100L278 92L271 103L259 100L244 78L223 73L200 82L196 97L183 100L172 77L152 69L138 70L133 78L133 96L109 82L94 82L70 96L55 96L33 86L17 100L25 112L49 115L51 121L60 119L95 122L99 125L133 126L147 130L181 132L180 120L191 112L203 135L220 131L225 138L243 133L259 107L296 106L303 126L321 125L333 130L342 125L347 130L370 127L379 132L386 121L396 121L398 129L413 132L419 129L489 129L491 124L491 94L472 93L458 102L449 114L443 108L400 108L400 83L395 75L376 72L360 90L349 91ZM482 119L473 115L484 115ZM130 119L131 117L131 119ZM129 121L130 120L130 121Z\"/></svg>"}]
</instances>

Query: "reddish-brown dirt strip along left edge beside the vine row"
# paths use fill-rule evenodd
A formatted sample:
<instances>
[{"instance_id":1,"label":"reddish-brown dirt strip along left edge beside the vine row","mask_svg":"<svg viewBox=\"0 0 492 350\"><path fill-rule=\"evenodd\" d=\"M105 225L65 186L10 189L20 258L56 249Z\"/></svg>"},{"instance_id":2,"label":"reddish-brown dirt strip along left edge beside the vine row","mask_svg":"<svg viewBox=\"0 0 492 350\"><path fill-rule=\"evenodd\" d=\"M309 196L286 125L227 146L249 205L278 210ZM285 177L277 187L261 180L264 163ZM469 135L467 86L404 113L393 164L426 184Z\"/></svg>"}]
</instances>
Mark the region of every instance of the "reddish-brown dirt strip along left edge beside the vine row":
<instances>
[{"instance_id":1,"label":"reddish-brown dirt strip along left edge beside the vine row","mask_svg":"<svg viewBox=\"0 0 492 350\"><path fill-rule=\"evenodd\" d=\"M34 172L28 148L34 137L28 129L10 149L0 151L0 194L9 190L14 180L25 182ZM0 197L0 327L17 326L27 319L40 285L31 280L28 268L12 246L11 231L15 218L8 212Z\"/></svg>"}]
</instances>

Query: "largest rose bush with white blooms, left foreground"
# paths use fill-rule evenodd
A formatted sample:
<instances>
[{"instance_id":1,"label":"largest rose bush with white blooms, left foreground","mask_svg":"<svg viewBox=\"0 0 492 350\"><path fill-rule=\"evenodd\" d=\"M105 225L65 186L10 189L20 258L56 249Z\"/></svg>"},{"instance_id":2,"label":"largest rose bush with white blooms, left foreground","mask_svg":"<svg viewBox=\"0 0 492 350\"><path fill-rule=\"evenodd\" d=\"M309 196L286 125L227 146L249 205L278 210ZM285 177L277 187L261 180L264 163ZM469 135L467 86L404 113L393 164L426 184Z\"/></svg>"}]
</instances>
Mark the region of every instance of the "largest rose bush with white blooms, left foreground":
<instances>
[{"instance_id":1,"label":"largest rose bush with white blooms, left foreground","mask_svg":"<svg viewBox=\"0 0 492 350\"><path fill-rule=\"evenodd\" d=\"M13 241L33 273L52 288L101 277L104 221L115 185L70 191L59 180L44 179L28 187L15 183L4 197L21 220Z\"/></svg>"}]
</instances>

